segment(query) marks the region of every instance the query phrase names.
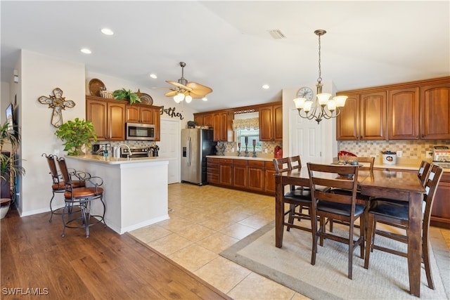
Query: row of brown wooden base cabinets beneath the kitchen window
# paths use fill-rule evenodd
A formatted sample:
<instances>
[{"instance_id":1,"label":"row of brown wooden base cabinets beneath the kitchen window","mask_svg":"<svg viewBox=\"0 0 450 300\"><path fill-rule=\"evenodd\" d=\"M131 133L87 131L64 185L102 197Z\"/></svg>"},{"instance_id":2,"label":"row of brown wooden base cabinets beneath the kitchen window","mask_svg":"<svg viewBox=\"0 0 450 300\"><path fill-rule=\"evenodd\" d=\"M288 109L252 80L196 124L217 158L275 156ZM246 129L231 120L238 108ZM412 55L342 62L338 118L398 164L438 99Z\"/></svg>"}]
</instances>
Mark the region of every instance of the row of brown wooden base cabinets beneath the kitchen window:
<instances>
[{"instance_id":1,"label":"row of brown wooden base cabinets beneath the kitchen window","mask_svg":"<svg viewBox=\"0 0 450 300\"><path fill-rule=\"evenodd\" d=\"M207 182L225 188L275 195L273 162L207 157Z\"/></svg>"}]
</instances>

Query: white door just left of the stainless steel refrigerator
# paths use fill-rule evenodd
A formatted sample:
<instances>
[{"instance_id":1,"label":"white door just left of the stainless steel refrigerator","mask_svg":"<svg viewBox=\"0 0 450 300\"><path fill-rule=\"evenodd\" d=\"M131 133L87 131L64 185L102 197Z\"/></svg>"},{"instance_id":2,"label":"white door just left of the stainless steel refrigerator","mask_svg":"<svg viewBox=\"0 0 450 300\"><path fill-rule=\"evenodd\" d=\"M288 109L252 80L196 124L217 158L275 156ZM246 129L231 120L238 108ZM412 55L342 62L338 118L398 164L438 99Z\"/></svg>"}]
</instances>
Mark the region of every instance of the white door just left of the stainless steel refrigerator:
<instances>
[{"instance_id":1,"label":"white door just left of the stainless steel refrigerator","mask_svg":"<svg viewBox=\"0 0 450 300\"><path fill-rule=\"evenodd\" d=\"M160 157L169 159L169 183L181 182L180 179L180 138L181 121L176 119L161 118Z\"/></svg>"}]
</instances>

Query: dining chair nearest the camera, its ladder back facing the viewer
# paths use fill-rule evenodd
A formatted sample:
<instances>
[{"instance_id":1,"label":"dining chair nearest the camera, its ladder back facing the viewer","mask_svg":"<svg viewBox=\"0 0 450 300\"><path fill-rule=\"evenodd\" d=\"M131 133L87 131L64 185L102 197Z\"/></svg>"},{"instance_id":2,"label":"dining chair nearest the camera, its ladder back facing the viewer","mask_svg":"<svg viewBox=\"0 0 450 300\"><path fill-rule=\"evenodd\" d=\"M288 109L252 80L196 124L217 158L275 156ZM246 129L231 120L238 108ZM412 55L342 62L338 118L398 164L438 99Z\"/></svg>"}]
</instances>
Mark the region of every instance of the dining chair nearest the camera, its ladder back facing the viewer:
<instances>
[{"instance_id":1,"label":"dining chair nearest the camera, its ladder back facing the viewer","mask_svg":"<svg viewBox=\"0 0 450 300\"><path fill-rule=\"evenodd\" d=\"M356 203L356 188L358 186L357 166L338 166L330 164L307 163L309 171L309 185L311 188L311 220L319 217L320 226L317 228L316 222L311 222L312 228L312 249L311 265L316 264L317 240L320 237L320 245L323 240L334 240L347 244L348 250L348 278L352 279L353 252L356 247L360 247L361 258L364 259L364 211L366 206ZM349 195L334 194L317 190L316 186L329 186L331 188L341 188L350 190ZM342 221L348 226L348 235L343 236L327 233L325 230L326 219ZM360 219L361 226L359 237L354 240L354 221ZM346 226L346 227L347 227Z\"/></svg>"}]
</instances>

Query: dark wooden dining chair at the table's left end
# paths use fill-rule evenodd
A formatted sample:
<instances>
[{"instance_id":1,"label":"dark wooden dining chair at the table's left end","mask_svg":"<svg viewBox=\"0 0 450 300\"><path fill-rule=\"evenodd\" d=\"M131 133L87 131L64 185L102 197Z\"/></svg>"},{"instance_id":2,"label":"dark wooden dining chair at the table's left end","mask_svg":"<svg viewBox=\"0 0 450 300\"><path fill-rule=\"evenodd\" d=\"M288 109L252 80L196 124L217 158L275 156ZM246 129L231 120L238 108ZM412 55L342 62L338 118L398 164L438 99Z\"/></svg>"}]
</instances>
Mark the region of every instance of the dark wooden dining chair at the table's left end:
<instances>
[{"instance_id":1,"label":"dark wooden dining chair at the table's left end","mask_svg":"<svg viewBox=\"0 0 450 300\"><path fill-rule=\"evenodd\" d=\"M274 159L274 167L276 173L291 170L288 157ZM295 219L300 222L302 220L310 219L309 211L311 209L311 193L309 188L307 190L302 190L295 188L295 185L290 185L289 191L283 195L283 205L285 203L289 204L288 211L285 211L285 215L288 214L288 222L284 221L284 225L287 226L287 230L290 231L290 228L293 227L311 232L311 228L294 223ZM304 209L306 209L308 213L305 213Z\"/></svg>"}]
</instances>

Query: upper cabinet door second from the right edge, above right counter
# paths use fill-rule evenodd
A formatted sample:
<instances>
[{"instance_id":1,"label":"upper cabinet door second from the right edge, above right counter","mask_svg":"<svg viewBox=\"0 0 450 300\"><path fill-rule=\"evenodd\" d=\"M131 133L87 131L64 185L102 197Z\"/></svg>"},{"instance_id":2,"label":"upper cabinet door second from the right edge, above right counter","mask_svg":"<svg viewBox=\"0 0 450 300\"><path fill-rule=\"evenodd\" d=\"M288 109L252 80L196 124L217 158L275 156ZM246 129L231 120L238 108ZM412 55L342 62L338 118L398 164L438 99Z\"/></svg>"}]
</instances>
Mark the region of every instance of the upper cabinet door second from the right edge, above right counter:
<instances>
[{"instance_id":1,"label":"upper cabinet door second from the right edge, above right counter","mask_svg":"<svg viewBox=\"0 0 450 300\"><path fill-rule=\"evenodd\" d=\"M419 138L419 88L393 89L387 96L387 139Z\"/></svg>"}]
</instances>

